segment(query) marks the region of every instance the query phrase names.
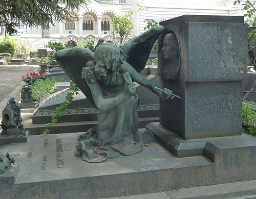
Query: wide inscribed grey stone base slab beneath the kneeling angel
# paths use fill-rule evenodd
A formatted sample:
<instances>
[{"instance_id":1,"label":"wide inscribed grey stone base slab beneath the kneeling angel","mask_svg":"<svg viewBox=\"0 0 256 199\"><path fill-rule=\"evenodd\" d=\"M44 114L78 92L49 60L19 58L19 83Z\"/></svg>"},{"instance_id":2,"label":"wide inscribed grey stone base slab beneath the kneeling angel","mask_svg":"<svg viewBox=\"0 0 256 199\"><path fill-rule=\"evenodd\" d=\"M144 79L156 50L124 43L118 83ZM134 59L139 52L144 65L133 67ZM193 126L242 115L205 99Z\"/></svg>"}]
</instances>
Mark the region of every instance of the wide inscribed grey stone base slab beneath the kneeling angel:
<instances>
[{"instance_id":1,"label":"wide inscribed grey stone base slab beneath the kneeling angel","mask_svg":"<svg viewBox=\"0 0 256 199\"><path fill-rule=\"evenodd\" d=\"M210 138L205 151L212 157L177 158L160 144L104 163L73 156L80 133L30 136L27 143L0 146L19 164L6 198L102 198L154 193L188 187L256 180L256 137ZM231 139L230 139L231 138ZM213 161L212 161L213 160ZM2 197L1 197L2 199Z\"/></svg>"}]
</instances>

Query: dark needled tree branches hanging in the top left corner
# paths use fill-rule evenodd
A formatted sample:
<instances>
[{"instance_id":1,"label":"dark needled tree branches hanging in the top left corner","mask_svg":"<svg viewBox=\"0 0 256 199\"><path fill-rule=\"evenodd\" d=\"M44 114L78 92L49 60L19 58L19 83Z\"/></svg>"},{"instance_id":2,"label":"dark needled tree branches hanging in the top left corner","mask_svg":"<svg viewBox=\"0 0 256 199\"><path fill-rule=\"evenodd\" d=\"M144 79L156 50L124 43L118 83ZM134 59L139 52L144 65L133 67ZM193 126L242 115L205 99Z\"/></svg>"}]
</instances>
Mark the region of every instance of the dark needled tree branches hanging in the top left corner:
<instances>
[{"instance_id":1,"label":"dark needled tree branches hanging in the top left corner","mask_svg":"<svg viewBox=\"0 0 256 199\"><path fill-rule=\"evenodd\" d=\"M69 12L79 10L90 0L0 0L0 26L7 34L17 32L19 23L26 26L49 26L68 20Z\"/></svg>"}]
</instances>

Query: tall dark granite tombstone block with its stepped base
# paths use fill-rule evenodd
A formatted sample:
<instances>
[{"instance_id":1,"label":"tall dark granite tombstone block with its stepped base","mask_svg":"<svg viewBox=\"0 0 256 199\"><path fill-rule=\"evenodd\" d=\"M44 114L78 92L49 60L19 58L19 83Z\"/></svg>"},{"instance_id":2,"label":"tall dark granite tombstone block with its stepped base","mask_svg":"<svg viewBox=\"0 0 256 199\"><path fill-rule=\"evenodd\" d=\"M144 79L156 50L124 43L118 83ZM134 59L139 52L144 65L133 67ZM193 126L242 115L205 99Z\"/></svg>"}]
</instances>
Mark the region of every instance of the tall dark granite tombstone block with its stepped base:
<instances>
[{"instance_id":1,"label":"tall dark granite tombstone block with its stepped base","mask_svg":"<svg viewBox=\"0 0 256 199\"><path fill-rule=\"evenodd\" d=\"M150 123L146 129L177 161L197 156L212 161L206 174L212 184L256 179L256 171L250 169L256 164L256 140L242 133L248 39L243 17L185 15L160 24L166 28L159 38L160 87L172 89L182 99L160 100L160 123ZM169 33L167 41L173 43L167 51L171 55L166 55L168 46L163 45ZM183 175L180 179L198 181Z\"/></svg>"}]
</instances>

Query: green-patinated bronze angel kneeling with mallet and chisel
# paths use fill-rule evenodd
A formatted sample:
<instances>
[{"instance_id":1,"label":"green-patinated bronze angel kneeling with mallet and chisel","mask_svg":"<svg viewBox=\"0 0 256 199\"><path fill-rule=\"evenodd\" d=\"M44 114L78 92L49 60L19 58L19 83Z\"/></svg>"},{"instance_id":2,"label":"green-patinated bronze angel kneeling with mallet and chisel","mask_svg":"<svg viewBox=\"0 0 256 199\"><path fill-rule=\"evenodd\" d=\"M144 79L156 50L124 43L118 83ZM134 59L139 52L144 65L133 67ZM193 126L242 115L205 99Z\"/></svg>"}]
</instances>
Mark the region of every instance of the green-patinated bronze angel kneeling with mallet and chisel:
<instances>
[{"instance_id":1,"label":"green-patinated bronze angel kneeling with mallet and chisel","mask_svg":"<svg viewBox=\"0 0 256 199\"><path fill-rule=\"evenodd\" d=\"M138 129L138 99L135 83L163 99L172 95L140 75L152 46L164 27L158 26L117 45L100 44L95 53L87 48L58 51L56 60L98 110L98 125L79 136L74 152L88 162L103 162L120 155L133 155L143 149L142 130ZM131 82L123 74L130 74ZM145 131L145 130L144 130Z\"/></svg>"}]
</instances>

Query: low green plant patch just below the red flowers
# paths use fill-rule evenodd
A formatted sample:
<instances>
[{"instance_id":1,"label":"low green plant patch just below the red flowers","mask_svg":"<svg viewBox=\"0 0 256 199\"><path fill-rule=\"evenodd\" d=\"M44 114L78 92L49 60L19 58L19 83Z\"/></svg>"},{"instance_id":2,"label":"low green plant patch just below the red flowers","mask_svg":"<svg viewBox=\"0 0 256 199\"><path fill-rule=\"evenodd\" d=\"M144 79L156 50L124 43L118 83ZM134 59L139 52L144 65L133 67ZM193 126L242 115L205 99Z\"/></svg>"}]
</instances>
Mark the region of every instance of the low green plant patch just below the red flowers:
<instances>
[{"instance_id":1,"label":"low green plant patch just below the red flowers","mask_svg":"<svg viewBox=\"0 0 256 199\"><path fill-rule=\"evenodd\" d=\"M32 98L34 101L39 101L42 97L52 94L54 92L54 84L56 82L59 82L56 78L46 78L45 81L41 80L33 83Z\"/></svg>"}]
</instances>

